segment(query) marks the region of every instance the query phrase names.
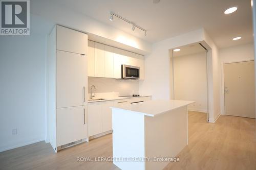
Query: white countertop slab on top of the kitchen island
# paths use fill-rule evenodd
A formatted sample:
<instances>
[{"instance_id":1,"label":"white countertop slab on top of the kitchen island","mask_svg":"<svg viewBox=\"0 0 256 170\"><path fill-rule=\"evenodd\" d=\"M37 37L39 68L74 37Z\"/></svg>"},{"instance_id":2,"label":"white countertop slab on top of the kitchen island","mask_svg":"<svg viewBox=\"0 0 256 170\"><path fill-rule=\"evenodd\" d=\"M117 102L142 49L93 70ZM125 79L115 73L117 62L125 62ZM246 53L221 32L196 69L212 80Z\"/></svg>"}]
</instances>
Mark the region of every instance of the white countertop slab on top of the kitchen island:
<instances>
[{"instance_id":1,"label":"white countertop slab on top of the kitchen island","mask_svg":"<svg viewBox=\"0 0 256 170\"><path fill-rule=\"evenodd\" d=\"M147 116L157 116L167 111L187 106L194 101L179 100L153 100L142 103L127 104L122 106L111 107L112 109L129 110L133 113L144 114Z\"/></svg>"}]
</instances>

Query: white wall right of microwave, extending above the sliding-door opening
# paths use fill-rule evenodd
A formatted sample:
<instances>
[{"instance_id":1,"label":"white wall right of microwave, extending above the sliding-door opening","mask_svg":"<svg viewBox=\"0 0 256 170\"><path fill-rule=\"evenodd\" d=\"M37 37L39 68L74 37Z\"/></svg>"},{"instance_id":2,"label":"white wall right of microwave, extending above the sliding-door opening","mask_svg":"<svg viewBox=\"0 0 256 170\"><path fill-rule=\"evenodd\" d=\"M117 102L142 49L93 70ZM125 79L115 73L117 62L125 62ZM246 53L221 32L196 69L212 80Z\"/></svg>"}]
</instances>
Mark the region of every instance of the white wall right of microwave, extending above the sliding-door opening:
<instances>
[{"instance_id":1,"label":"white wall right of microwave, extending above the sliding-door opening","mask_svg":"<svg viewBox=\"0 0 256 170\"><path fill-rule=\"evenodd\" d=\"M203 29L168 38L153 44L152 53L145 55L145 80L140 81L140 93L152 94L152 99L170 99L169 49L203 40Z\"/></svg>"}]
</instances>

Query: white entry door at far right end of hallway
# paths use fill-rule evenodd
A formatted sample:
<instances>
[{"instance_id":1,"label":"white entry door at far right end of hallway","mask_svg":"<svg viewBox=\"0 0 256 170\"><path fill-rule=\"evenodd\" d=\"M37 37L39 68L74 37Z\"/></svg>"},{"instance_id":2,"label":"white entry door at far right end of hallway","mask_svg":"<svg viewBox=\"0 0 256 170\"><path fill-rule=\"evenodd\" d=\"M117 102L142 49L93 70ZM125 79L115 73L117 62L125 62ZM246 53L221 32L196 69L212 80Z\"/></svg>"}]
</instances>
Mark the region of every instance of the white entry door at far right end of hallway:
<instances>
[{"instance_id":1,"label":"white entry door at far right end of hallway","mask_svg":"<svg viewBox=\"0 0 256 170\"><path fill-rule=\"evenodd\" d=\"M224 64L225 114L255 118L254 61Z\"/></svg>"}]
</instances>

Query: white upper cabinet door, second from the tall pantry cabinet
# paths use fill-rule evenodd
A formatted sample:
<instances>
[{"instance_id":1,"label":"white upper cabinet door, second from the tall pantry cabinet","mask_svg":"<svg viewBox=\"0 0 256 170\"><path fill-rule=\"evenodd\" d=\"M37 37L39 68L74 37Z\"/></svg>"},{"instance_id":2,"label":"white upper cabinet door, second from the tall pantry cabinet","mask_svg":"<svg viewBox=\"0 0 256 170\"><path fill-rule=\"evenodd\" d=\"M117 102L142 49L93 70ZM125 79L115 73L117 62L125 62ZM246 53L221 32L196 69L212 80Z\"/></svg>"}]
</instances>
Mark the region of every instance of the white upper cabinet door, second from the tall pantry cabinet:
<instances>
[{"instance_id":1,"label":"white upper cabinet door, second from the tall pantry cabinet","mask_svg":"<svg viewBox=\"0 0 256 170\"><path fill-rule=\"evenodd\" d=\"M105 76L104 44L95 42L95 77Z\"/></svg>"}]
</instances>

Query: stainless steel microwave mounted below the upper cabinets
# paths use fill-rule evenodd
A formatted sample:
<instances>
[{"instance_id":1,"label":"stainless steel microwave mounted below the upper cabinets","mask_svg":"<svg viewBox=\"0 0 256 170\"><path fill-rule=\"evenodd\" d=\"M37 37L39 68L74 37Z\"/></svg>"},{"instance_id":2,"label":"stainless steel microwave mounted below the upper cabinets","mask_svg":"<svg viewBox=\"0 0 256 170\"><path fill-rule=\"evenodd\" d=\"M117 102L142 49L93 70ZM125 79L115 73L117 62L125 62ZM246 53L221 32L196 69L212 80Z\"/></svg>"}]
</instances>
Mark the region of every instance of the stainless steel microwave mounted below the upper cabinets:
<instances>
[{"instance_id":1,"label":"stainless steel microwave mounted below the upper cabinets","mask_svg":"<svg viewBox=\"0 0 256 170\"><path fill-rule=\"evenodd\" d=\"M140 78L140 67L122 64L122 79L134 80Z\"/></svg>"}]
</instances>

